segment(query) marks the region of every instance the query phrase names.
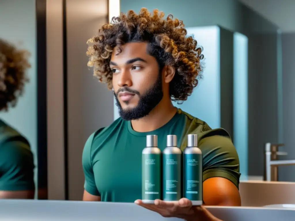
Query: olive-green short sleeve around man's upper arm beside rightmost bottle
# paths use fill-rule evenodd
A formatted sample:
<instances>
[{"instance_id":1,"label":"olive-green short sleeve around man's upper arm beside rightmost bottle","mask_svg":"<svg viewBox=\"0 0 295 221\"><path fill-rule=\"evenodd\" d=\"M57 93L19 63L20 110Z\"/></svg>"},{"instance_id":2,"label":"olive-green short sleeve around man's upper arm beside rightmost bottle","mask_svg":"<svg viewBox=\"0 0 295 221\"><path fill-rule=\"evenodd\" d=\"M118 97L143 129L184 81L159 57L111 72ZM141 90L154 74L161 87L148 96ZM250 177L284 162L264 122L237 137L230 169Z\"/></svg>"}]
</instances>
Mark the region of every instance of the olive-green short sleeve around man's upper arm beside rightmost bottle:
<instances>
[{"instance_id":1,"label":"olive-green short sleeve around man's upper arm beside rightmost bottle","mask_svg":"<svg viewBox=\"0 0 295 221\"><path fill-rule=\"evenodd\" d=\"M203 182L211 177L224 177L239 188L240 163L231 138L207 136L199 141L199 148L203 154Z\"/></svg>"}]
</instances>

